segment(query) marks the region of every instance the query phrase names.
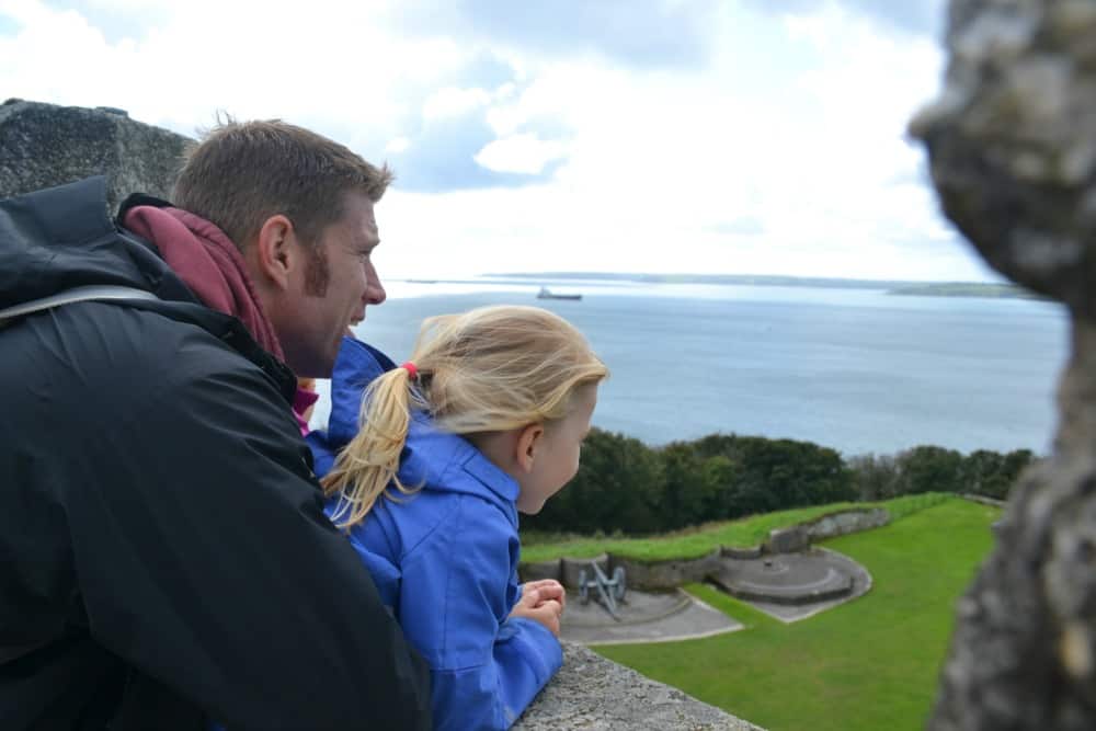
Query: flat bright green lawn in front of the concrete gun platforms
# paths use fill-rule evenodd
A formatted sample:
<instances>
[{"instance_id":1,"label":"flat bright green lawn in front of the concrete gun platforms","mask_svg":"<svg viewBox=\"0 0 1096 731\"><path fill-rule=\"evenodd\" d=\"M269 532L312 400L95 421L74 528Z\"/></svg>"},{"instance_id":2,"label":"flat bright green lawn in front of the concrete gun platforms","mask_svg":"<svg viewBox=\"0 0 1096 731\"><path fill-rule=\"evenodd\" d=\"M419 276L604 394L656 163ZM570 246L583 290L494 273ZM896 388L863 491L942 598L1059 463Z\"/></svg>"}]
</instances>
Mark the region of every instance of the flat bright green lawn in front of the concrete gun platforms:
<instances>
[{"instance_id":1,"label":"flat bright green lawn in front of the concrete gun platforms","mask_svg":"<svg viewBox=\"0 0 1096 731\"><path fill-rule=\"evenodd\" d=\"M867 567L865 596L785 625L705 585L737 632L597 652L770 731L922 729L955 602L992 546L1000 510L960 499L825 541Z\"/></svg>"}]
</instances>

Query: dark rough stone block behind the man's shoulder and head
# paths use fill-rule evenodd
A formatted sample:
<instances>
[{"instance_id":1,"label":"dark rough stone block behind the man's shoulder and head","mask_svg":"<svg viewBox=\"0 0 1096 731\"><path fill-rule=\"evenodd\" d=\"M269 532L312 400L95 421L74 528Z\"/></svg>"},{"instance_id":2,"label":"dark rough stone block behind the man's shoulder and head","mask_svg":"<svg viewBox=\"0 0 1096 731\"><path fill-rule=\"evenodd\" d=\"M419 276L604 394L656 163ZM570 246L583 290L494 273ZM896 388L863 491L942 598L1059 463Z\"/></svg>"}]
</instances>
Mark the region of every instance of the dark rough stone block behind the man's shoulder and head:
<instances>
[{"instance_id":1,"label":"dark rough stone block behind the man's shoulder and head","mask_svg":"<svg viewBox=\"0 0 1096 731\"><path fill-rule=\"evenodd\" d=\"M170 199L192 141L123 110L9 99L0 104L0 198L106 175L112 213L130 193Z\"/></svg>"}]
</instances>

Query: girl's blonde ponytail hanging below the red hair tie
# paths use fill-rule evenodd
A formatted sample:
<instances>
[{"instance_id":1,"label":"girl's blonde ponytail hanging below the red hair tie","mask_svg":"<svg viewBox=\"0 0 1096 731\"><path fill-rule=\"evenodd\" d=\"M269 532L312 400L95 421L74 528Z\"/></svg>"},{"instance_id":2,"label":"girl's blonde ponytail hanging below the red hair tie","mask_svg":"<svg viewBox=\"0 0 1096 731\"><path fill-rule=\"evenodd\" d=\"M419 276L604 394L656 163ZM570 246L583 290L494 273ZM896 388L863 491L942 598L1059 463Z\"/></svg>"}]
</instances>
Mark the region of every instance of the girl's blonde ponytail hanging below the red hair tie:
<instances>
[{"instance_id":1,"label":"girl's blonde ponytail hanging below the red hair tie","mask_svg":"<svg viewBox=\"0 0 1096 731\"><path fill-rule=\"evenodd\" d=\"M361 523L389 483L412 492L396 477L411 423L411 402L418 400L411 388L407 367L389 370L366 388L361 429L320 481L324 494L342 493L331 516L339 527Z\"/></svg>"}]
</instances>

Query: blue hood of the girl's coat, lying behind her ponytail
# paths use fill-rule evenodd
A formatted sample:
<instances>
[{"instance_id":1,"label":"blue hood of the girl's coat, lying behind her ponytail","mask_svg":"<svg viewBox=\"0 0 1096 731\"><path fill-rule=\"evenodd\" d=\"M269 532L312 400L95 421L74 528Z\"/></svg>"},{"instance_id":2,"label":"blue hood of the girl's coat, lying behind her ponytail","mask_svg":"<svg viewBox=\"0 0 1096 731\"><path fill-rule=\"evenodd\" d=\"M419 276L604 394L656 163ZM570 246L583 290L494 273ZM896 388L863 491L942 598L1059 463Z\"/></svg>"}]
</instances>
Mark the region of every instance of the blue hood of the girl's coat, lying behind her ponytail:
<instances>
[{"instance_id":1,"label":"blue hood of the girl's coat, lying behind her ponytail","mask_svg":"<svg viewBox=\"0 0 1096 731\"><path fill-rule=\"evenodd\" d=\"M395 367L392 359L375 347L353 338L343 339L331 376L328 429L311 432L306 438L318 475L331 470L335 456L357 434L366 387ZM412 414L398 475L409 487L464 492L510 505L517 500L517 483L512 477L464 437L435 429L422 412ZM513 519L516 522L516 514Z\"/></svg>"}]
</instances>

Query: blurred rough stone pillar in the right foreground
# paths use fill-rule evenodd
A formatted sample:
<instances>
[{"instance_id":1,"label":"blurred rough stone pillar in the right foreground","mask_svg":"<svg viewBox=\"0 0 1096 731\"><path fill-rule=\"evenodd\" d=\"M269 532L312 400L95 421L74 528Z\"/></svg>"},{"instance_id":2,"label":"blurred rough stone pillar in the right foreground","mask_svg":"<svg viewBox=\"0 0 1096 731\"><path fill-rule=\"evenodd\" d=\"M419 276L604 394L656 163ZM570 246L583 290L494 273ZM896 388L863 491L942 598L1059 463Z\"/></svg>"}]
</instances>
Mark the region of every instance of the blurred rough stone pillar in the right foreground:
<instances>
[{"instance_id":1,"label":"blurred rough stone pillar in the right foreground","mask_svg":"<svg viewBox=\"0 0 1096 731\"><path fill-rule=\"evenodd\" d=\"M1073 350L1053 455L960 601L928 728L1096 729L1096 0L952 0L947 47L911 132L985 260L1066 305Z\"/></svg>"}]
</instances>

